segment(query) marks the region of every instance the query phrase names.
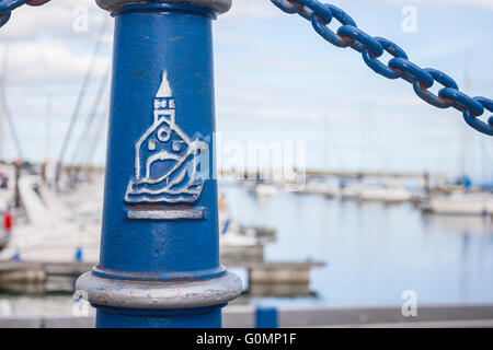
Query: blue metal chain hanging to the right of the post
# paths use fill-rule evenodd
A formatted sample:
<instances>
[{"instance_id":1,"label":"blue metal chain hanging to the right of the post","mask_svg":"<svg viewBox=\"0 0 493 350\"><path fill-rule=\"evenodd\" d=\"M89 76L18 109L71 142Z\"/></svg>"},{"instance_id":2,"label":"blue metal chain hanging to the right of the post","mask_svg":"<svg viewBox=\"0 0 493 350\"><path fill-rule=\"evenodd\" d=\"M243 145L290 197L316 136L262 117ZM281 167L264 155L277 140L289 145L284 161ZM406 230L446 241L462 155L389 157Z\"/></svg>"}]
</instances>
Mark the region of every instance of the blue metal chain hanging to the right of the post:
<instances>
[{"instance_id":1,"label":"blue metal chain hanging to the right of the post","mask_svg":"<svg viewBox=\"0 0 493 350\"><path fill-rule=\"evenodd\" d=\"M493 113L492 100L470 97L460 92L454 79L446 73L433 68L421 68L411 62L398 45L382 37L372 37L359 30L347 13L333 4L321 3L317 0L271 1L284 12L297 13L310 21L314 31L326 42L337 47L351 47L360 52L366 65L378 74L388 79L404 79L413 84L414 92L423 101L438 108L454 107L462 112L463 119L470 127L493 136L493 116L488 124L478 118L484 114L484 109ZM333 19L342 24L335 33L328 26ZM393 56L388 65L378 60L383 51ZM444 86L438 92L438 96L428 91L435 82Z\"/></svg>"}]
</instances>

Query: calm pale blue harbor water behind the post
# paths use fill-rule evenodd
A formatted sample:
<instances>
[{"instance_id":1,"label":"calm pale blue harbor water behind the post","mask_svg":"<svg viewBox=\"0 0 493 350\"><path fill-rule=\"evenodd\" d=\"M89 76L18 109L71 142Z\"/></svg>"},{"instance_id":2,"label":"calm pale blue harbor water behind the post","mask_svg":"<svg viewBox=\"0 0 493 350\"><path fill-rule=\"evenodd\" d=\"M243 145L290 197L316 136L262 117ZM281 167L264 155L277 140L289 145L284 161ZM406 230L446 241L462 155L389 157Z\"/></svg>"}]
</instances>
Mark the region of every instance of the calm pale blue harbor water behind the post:
<instances>
[{"instance_id":1,"label":"calm pale blue harbor water behind the post","mask_svg":"<svg viewBox=\"0 0 493 350\"><path fill-rule=\"evenodd\" d=\"M493 222L488 217L425 214L413 203L329 199L279 190L268 197L223 185L231 218L276 230L266 261L325 262L310 272L305 296L254 296L232 304L400 305L493 302ZM246 272L239 273L248 291ZM0 295L0 315L72 314L71 291L25 290Z\"/></svg>"}]
</instances>

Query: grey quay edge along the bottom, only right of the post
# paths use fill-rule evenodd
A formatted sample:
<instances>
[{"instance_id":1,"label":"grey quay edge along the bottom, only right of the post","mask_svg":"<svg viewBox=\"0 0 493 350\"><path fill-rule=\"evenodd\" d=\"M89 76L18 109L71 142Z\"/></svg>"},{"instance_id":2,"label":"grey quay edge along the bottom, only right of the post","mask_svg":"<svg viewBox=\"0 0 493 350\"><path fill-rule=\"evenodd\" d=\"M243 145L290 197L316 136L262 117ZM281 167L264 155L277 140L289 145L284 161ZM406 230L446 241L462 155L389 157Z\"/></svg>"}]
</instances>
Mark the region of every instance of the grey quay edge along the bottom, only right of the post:
<instances>
[{"instance_id":1,"label":"grey quay edge along the bottom, only right of the post","mask_svg":"<svg viewBox=\"0 0 493 350\"><path fill-rule=\"evenodd\" d=\"M226 327L254 327L253 306L225 310ZM405 317L395 306L279 306L279 327L310 328L456 328L493 327L493 304L419 305L417 315Z\"/></svg>"}]
</instances>

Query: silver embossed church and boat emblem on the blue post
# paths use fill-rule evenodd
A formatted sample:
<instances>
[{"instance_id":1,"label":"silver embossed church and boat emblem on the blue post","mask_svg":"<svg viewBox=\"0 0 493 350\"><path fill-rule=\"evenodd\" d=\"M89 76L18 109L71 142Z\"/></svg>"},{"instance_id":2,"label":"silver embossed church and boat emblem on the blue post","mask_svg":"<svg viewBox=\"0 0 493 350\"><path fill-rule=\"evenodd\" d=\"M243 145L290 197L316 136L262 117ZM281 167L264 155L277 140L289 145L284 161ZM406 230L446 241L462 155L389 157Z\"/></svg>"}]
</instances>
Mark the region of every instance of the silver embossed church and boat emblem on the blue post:
<instances>
[{"instance_id":1,"label":"silver embossed church and boat emblem on the blue post","mask_svg":"<svg viewBox=\"0 0 493 350\"><path fill-rule=\"evenodd\" d=\"M127 203L193 203L200 196L204 179L197 171L198 158L208 144L200 135L191 138L179 127L176 112L164 71L153 101L153 122L135 144L135 176L125 194ZM145 212L129 212L128 218L172 219L168 217L182 211L161 211L142 218ZM194 219L191 212L181 217Z\"/></svg>"}]
</instances>

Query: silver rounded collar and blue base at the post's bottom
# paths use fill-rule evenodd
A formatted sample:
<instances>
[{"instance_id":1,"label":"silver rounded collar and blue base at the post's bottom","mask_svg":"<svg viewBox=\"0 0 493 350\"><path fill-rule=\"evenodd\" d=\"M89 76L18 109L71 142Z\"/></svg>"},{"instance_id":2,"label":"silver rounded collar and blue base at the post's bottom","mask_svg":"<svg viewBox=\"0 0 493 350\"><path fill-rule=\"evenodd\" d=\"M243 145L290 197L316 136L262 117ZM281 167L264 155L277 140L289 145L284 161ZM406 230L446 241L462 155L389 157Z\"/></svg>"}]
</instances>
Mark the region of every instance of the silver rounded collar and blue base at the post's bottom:
<instances>
[{"instance_id":1,"label":"silver rounded collar and blue base at the post's bottom","mask_svg":"<svg viewBox=\"0 0 493 350\"><path fill-rule=\"evenodd\" d=\"M96 307L99 328L173 328L221 326L221 307L241 294L231 272L193 282L115 280L82 275L76 284Z\"/></svg>"}]
</instances>

